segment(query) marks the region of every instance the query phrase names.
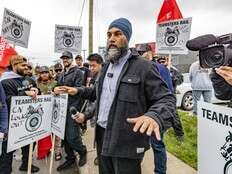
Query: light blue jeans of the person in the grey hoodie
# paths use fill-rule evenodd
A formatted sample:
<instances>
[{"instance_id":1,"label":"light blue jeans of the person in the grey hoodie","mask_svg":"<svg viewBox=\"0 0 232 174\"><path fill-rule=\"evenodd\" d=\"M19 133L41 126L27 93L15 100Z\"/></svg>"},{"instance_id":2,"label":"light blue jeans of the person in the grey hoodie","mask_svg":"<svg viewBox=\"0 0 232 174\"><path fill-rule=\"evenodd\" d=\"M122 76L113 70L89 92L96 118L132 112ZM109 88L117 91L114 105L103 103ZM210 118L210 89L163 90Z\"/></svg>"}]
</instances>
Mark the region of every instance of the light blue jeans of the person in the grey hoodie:
<instances>
[{"instance_id":1,"label":"light blue jeans of the person in the grey hoodie","mask_svg":"<svg viewBox=\"0 0 232 174\"><path fill-rule=\"evenodd\" d=\"M193 113L197 115L197 102L200 101L201 95L205 102L210 103L212 97L212 90L193 90Z\"/></svg>"}]
</instances>

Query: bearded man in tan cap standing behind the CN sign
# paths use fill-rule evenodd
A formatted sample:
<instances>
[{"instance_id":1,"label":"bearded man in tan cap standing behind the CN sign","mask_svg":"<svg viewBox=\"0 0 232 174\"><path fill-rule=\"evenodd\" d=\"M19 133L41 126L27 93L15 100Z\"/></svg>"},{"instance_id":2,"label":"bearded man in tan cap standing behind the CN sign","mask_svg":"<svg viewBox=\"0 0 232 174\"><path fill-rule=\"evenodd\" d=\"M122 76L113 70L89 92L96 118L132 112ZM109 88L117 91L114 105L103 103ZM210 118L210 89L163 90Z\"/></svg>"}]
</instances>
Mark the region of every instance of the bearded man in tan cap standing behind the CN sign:
<instances>
[{"instance_id":1,"label":"bearded man in tan cap standing behind the CN sign","mask_svg":"<svg viewBox=\"0 0 232 174\"><path fill-rule=\"evenodd\" d=\"M6 93L8 115L10 115L10 105L12 96L30 96L36 97L38 89L35 82L27 74L27 59L23 56L16 55L10 59L10 71L1 76L1 83ZM22 165L19 170L27 171L29 145L22 149ZM7 153L7 141L3 142L2 155L0 157L0 173L10 174L12 172L13 152ZM38 172L39 168L32 165L31 172Z\"/></svg>"}]
</instances>

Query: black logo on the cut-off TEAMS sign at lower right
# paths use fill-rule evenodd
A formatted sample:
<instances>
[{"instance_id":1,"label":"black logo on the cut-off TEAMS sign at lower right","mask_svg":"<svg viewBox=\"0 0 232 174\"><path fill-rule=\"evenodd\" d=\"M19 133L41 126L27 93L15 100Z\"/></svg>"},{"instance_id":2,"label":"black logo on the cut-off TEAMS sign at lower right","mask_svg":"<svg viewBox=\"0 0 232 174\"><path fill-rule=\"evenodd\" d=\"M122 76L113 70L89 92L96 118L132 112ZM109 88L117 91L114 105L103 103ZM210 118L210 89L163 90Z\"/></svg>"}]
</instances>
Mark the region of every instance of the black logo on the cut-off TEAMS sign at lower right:
<instances>
[{"instance_id":1,"label":"black logo on the cut-off TEAMS sign at lower right","mask_svg":"<svg viewBox=\"0 0 232 174\"><path fill-rule=\"evenodd\" d=\"M229 131L229 135L225 138L226 142L220 148L222 157L226 160L224 166L224 174L230 174L229 169L232 166L232 133Z\"/></svg>"}]
</instances>

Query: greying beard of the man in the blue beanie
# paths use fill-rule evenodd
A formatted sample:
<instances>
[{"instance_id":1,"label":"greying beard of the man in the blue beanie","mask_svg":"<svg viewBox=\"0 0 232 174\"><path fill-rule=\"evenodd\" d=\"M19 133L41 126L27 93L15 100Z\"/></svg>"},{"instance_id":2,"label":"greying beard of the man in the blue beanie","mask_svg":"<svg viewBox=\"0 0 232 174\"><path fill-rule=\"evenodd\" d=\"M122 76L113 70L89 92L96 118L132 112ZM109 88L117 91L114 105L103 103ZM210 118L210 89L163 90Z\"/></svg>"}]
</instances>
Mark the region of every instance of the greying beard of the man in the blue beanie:
<instances>
[{"instance_id":1,"label":"greying beard of the man in the blue beanie","mask_svg":"<svg viewBox=\"0 0 232 174\"><path fill-rule=\"evenodd\" d=\"M127 53L128 47L121 48L108 48L106 55L106 62L111 62L112 64L118 63L119 59L122 58Z\"/></svg>"}]
</instances>

